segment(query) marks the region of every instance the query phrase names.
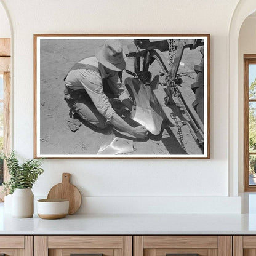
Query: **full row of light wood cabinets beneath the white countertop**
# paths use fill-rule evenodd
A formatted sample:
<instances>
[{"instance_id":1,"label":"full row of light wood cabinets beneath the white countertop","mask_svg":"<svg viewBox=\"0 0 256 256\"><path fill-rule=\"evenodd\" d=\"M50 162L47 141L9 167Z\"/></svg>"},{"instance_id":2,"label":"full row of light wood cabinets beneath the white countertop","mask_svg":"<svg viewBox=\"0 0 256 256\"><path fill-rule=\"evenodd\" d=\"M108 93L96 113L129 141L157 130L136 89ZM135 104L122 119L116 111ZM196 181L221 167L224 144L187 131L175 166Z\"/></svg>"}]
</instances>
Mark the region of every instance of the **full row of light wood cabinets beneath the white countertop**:
<instances>
[{"instance_id":1,"label":"full row of light wood cabinets beneath the white countertop","mask_svg":"<svg viewBox=\"0 0 256 256\"><path fill-rule=\"evenodd\" d=\"M256 256L256 236L0 236L1 254L5 256Z\"/></svg>"}]
</instances>

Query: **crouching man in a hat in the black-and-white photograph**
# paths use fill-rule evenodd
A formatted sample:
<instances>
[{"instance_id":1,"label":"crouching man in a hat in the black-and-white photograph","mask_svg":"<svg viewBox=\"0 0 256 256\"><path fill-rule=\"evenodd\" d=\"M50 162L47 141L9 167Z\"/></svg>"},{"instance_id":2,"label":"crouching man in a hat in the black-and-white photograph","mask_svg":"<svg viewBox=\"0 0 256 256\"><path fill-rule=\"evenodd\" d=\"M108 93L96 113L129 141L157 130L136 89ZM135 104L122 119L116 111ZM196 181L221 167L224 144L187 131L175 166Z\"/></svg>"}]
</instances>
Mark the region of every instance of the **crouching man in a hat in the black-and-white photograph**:
<instances>
[{"instance_id":1,"label":"crouching man in a hat in the black-and-white photograph","mask_svg":"<svg viewBox=\"0 0 256 256\"><path fill-rule=\"evenodd\" d=\"M76 63L65 77L65 100L79 119L96 130L103 130L112 124L119 130L136 138L146 138L144 126L132 127L116 113L107 92L129 110L132 101L122 85L119 71L126 68L126 56L118 40L108 40L95 50L94 57L84 58Z\"/></svg>"}]
</instances>

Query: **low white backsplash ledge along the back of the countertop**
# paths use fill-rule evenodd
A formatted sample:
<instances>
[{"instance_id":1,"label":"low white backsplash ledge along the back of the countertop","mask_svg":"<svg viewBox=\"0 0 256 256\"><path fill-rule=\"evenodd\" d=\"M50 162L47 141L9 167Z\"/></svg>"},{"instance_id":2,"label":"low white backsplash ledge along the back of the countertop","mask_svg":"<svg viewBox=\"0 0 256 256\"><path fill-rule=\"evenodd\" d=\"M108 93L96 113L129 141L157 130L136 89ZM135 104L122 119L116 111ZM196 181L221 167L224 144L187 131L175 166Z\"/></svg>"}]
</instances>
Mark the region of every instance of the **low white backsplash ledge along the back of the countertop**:
<instances>
[{"instance_id":1,"label":"low white backsplash ledge along the back of the countertop","mask_svg":"<svg viewBox=\"0 0 256 256\"><path fill-rule=\"evenodd\" d=\"M35 195L35 199L45 198ZM241 214L228 196L83 196L78 214Z\"/></svg>"}]
</instances>

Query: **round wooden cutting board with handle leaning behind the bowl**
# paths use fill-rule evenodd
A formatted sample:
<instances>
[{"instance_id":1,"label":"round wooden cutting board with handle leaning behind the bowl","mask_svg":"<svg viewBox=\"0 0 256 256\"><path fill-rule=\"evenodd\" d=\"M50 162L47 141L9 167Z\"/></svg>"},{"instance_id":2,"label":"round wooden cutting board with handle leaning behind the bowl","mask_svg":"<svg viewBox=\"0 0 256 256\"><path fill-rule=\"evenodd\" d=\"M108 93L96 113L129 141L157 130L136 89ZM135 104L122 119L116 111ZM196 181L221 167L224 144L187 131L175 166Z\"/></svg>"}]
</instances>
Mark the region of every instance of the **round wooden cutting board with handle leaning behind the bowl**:
<instances>
[{"instance_id":1,"label":"round wooden cutting board with handle leaning behind the bowl","mask_svg":"<svg viewBox=\"0 0 256 256\"><path fill-rule=\"evenodd\" d=\"M82 196L78 188L70 183L70 174L62 174L62 183L53 186L47 196L47 199L68 199L70 208L68 215L74 214L81 206Z\"/></svg>"}]
</instances>

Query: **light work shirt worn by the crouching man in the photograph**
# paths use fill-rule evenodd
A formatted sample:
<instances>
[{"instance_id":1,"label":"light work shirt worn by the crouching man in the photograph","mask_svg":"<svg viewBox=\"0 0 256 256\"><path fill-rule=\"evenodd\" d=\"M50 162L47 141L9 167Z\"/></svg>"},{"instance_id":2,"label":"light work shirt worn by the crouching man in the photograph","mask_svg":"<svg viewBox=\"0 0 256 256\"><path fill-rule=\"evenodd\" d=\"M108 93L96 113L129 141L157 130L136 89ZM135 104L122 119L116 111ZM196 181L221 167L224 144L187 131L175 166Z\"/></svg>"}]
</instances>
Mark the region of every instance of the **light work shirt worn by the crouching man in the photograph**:
<instances>
[{"instance_id":1,"label":"light work shirt worn by the crouching man in the photograph","mask_svg":"<svg viewBox=\"0 0 256 256\"><path fill-rule=\"evenodd\" d=\"M71 70L65 79L66 86L73 90L85 89L100 114L110 120L115 111L103 92L102 79L107 79L110 89L119 100L122 101L129 98L126 89L122 86L118 73L114 74L114 76L112 74L109 76L96 57L84 58L79 63L95 66L99 71L90 69Z\"/></svg>"}]
</instances>

